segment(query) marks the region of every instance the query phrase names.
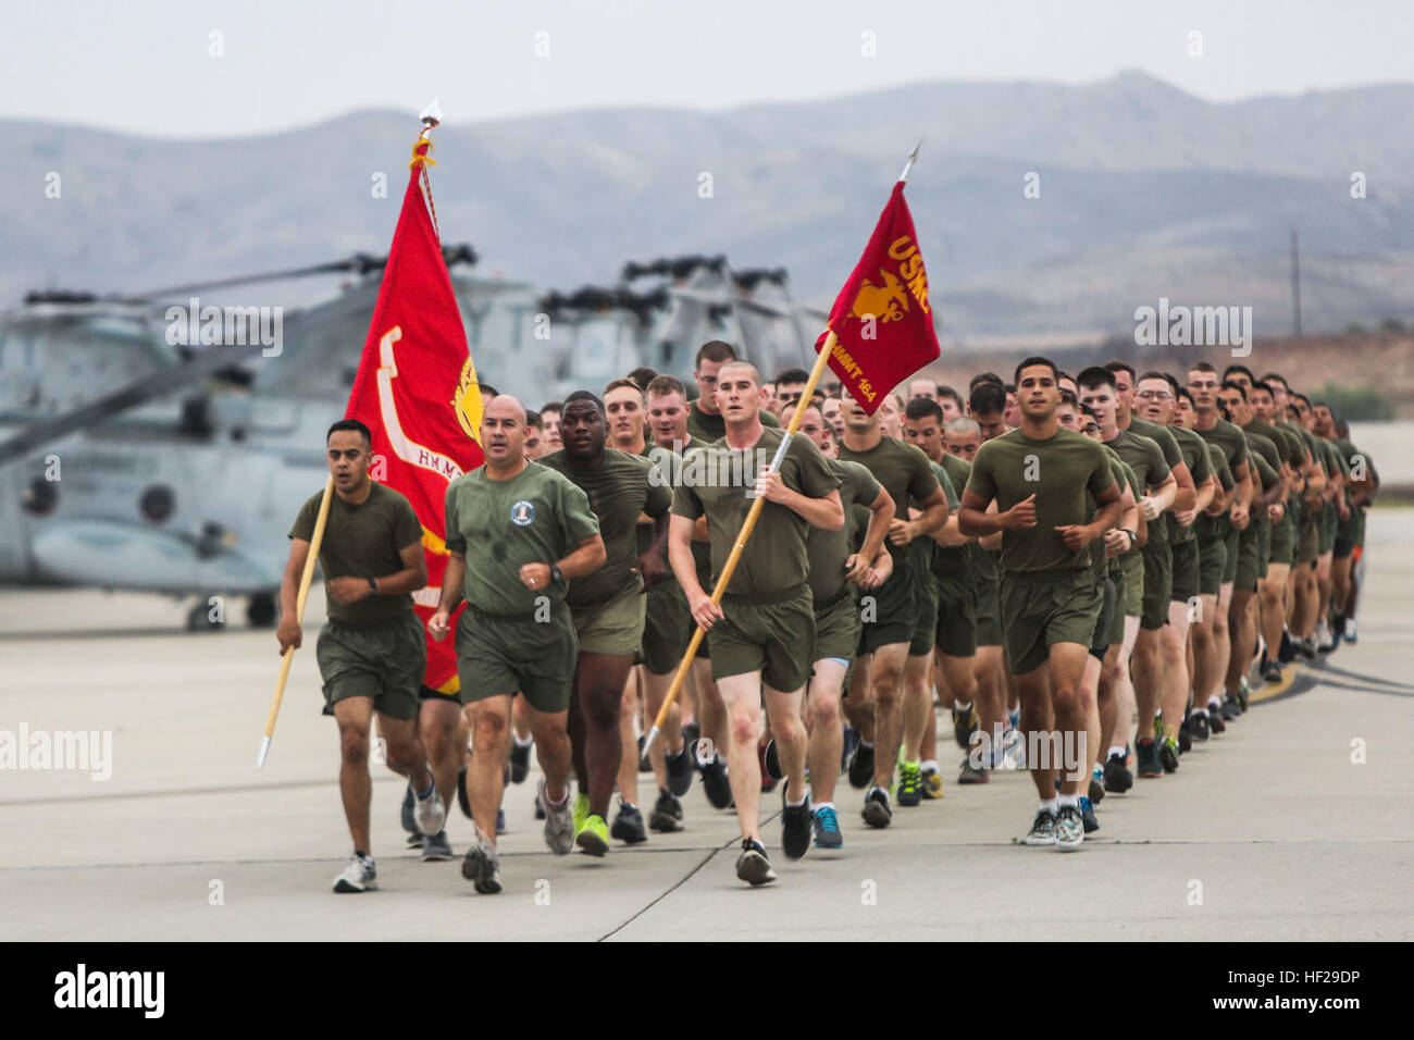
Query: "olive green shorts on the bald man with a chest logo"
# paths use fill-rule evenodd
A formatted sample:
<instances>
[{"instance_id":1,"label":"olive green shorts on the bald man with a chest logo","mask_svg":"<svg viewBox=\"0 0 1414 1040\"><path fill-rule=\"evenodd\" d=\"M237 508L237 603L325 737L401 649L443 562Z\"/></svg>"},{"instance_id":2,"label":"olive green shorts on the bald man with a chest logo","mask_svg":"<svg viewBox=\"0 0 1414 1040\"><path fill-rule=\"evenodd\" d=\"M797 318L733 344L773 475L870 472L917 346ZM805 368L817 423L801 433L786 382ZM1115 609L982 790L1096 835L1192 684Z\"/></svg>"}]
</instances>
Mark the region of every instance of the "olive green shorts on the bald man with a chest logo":
<instances>
[{"instance_id":1,"label":"olive green shorts on the bald man with a chest logo","mask_svg":"<svg viewBox=\"0 0 1414 1040\"><path fill-rule=\"evenodd\" d=\"M464 705L525 695L537 712L570 707L570 683L580 655L570 608L554 604L544 621L492 616L471 604L457 623L457 678Z\"/></svg>"}]
</instances>

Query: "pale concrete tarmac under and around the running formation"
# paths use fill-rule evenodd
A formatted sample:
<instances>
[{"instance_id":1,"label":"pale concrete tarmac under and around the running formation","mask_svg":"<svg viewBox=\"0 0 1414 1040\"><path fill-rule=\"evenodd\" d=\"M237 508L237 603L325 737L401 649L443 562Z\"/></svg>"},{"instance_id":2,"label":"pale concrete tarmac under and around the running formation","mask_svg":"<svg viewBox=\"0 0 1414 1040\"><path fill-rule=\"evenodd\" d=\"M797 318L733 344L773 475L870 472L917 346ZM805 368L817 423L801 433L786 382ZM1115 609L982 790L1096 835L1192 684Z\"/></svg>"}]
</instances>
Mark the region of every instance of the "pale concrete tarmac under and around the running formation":
<instances>
[{"instance_id":1,"label":"pale concrete tarmac under and around the running formation","mask_svg":"<svg viewBox=\"0 0 1414 1040\"><path fill-rule=\"evenodd\" d=\"M189 634L158 597L4 590L0 739L88 730L102 753L110 733L112 753L86 771L0 765L0 940L1410 940L1411 521L1370 518L1359 644L1264 691L1178 774L1106 798L1080 852L1018 845L1031 781L956 785L949 739L946 798L895 808L887 831L841 781L839 853L788 862L779 791L765 795L779 882L755 890L735 877L734 814L696 784L686 831L556 857L532 771L506 795L506 889L477 896L458 862L404 849L403 784L373 767L380 890L335 896L349 839L320 715L318 594L256 771L273 631ZM645 774L641 804L655 794ZM460 857L471 822L455 807L448 833Z\"/></svg>"}]
</instances>

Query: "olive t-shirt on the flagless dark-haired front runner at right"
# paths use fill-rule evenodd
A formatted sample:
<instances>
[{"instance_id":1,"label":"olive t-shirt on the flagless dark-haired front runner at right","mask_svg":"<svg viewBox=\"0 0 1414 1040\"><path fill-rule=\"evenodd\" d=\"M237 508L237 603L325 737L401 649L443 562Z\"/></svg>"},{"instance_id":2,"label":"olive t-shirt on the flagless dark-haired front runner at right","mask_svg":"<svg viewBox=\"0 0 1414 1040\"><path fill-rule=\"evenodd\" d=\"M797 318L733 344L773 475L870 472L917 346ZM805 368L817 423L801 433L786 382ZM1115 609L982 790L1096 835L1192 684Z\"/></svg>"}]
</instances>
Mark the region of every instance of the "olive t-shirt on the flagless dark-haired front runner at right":
<instances>
[{"instance_id":1,"label":"olive t-shirt on the flagless dark-haired front runner at right","mask_svg":"<svg viewBox=\"0 0 1414 1040\"><path fill-rule=\"evenodd\" d=\"M1001 535L1001 566L1012 572L1090 566L1090 548L1066 548L1056 526L1089 524L1094 514L1086 509L1086 491L1099 497L1113 487L1104 447L1065 429L1048 440L1032 440L1021 427L988 440L977 449L967 481L967 490L984 504L995 498L1000 512L1036 497L1036 526Z\"/></svg>"}]
</instances>

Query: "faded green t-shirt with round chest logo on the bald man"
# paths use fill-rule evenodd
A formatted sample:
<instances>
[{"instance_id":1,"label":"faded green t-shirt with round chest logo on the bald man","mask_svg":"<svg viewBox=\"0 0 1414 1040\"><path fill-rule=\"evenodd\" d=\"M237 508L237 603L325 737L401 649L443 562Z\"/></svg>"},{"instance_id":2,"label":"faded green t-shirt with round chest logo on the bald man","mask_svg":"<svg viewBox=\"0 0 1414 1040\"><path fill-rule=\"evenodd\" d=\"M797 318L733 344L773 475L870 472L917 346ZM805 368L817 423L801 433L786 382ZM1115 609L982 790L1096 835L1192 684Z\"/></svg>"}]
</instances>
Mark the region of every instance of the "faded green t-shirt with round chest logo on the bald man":
<instances>
[{"instance_id":1,"label":"faded green t-shirt with round chest logo on the bald man","mask_svg":"<svg viewBox=\"0 0 1414 1040\"><path fill-rule=\"evenodd\" d=\"M447 485L447 550L467 557L462 594L488 614L530 617L542 596L563 603L564 583L527 589L520 567L557 563L597 533L590 499L540 463L527 463L510 480L491 480L479 466Z\"/></svg>"}]
</instances>

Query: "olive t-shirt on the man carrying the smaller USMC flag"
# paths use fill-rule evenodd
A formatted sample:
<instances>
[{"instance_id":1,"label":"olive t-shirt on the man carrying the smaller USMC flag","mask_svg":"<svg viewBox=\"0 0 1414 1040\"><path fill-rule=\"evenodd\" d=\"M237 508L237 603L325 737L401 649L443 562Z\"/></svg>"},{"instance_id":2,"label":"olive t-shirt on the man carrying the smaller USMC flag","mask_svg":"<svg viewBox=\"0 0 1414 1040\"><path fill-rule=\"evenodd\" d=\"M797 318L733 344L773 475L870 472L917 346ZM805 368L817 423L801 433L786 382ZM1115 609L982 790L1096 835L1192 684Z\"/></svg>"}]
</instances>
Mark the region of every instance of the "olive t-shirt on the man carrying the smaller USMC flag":
<instances>
[{"instance_id":1,"label":"olive t-shirt on the man carrying the smaller USMC flag","mask_svg":"<svg viewBox=\"0 0 1414 1040\"><path fill-rule=\"evenodd\" d=\"M765 429L749 449L737 451L717 441L706 449L691 449L683 456L683 468L673 484L673 515L697 519L707 516L711 538L713 580L731 555L741 525L755 501L756 474L768 466L785 432ZM805 436L790 439L781 461L781 478L788 488L807 498L824 498L840 481L826 464L820 449ZM779 502L766 502L751 533L751 541L731 573L731 596L772 599L806 580L805 541L810 524L805 516ZM706 590L706 586L704 586Z\"/></svg>"}]
</instances>

